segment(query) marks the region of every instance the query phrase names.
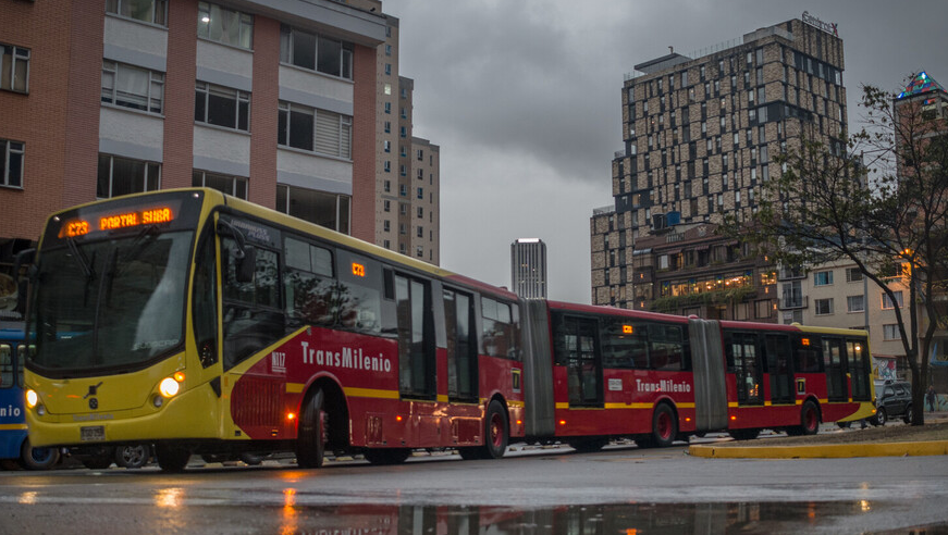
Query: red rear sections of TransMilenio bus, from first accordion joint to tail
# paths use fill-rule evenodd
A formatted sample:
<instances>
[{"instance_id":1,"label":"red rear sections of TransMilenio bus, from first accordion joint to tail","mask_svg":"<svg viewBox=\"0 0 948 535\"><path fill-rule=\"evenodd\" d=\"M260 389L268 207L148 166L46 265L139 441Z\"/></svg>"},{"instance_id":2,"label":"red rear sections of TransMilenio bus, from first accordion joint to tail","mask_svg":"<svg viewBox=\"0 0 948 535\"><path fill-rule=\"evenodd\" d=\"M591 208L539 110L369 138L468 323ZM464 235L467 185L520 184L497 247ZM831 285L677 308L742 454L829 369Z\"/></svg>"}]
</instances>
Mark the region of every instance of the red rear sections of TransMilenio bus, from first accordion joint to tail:
<instances>
[{"instance_id":1,"label":"red rear sections of TransMilenio bus, from first accordion joint to tail","mask_svg":"<svg viewBox=\"0 0 948 535\"><path fill-rule=\"evenodd\" d=\"M595 450L871 415L865 332L528 301L527 435Z\"/></svg>"}]
</instances>

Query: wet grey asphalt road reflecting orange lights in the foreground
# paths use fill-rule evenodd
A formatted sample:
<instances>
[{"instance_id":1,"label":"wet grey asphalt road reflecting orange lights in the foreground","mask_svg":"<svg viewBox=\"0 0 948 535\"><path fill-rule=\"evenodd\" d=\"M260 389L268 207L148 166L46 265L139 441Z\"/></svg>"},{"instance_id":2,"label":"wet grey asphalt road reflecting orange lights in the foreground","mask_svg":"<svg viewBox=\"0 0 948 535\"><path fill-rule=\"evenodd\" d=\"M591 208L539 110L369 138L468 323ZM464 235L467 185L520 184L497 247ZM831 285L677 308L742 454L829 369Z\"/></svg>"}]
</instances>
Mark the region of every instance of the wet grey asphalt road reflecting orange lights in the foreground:
<instances>
[{"instance_id":1,"label":"wet grey asphalt road reflecting orange lights in the foreground","mask_svg":"<svg viewBox=\"0 0 948 535\"><path fill-rule=\"evenodd\" d=\"M517 448L262 466L0 472L0 534L948 533L946 457L728 460Z\"/></svg>"}]
</instances>

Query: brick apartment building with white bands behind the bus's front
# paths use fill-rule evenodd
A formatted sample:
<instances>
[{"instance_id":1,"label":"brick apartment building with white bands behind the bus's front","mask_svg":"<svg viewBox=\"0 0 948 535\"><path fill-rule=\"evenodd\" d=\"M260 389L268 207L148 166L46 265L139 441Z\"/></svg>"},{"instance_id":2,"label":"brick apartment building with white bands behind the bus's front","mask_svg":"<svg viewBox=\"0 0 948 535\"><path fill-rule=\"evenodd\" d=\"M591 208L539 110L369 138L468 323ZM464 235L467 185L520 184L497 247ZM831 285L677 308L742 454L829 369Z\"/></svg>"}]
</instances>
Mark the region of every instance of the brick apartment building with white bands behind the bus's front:
<instances>
[{"instance_id":1,"label":"brick apartment building with white bands behind the bus's front","mask_svg":"<svg viewBox=\"0 0 948 535\"><path fill-rule=\"evenodd\" d=\"M379 97L393 27L381 2L0 0L0 274L52 211L193 185L383 245L377 130L399 95ZM406 154L415 142L426 162L410 169L432 184L423 259L436 263L438 147L409 136Z\"/></svg>"}]
</instances>

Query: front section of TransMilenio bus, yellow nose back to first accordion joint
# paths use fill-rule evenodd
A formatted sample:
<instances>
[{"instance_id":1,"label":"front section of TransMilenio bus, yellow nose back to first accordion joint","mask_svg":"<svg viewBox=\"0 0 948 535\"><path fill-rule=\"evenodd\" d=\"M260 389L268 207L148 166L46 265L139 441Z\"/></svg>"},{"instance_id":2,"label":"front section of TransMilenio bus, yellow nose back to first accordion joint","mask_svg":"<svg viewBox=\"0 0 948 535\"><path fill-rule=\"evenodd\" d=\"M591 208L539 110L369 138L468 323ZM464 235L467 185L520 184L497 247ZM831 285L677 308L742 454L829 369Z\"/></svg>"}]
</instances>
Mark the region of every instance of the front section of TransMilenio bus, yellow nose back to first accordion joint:
<instances>
[{"instance_id":1,"label":"front section of TransMilenio bus, yellow nose back to first accordion joint","mask_svg":"<svg viewBox=\"0 0 948 535\"><path fill-rule=\"evenodd\" d=\"M37 444L153 444L181 470L524 436L516 296L213 190L54 214L34 284Z\"/></svg>"}]
</instances>

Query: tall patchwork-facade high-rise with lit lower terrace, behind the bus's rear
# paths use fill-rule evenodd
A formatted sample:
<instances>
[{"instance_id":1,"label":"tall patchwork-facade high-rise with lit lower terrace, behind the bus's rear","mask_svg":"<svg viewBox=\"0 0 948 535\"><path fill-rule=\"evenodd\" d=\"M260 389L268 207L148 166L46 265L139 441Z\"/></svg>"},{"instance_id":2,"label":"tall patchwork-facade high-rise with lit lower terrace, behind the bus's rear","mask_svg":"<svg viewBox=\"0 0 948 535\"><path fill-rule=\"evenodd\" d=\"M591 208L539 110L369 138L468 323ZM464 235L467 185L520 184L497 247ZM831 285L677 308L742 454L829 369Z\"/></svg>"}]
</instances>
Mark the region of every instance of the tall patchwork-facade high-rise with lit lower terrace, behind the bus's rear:
<instances>
[{"instance_id":1,"label":"tall patchwork-facade high-rise with lit lower terrace, behind the bus's rear","mask_svg":"<svg viewBox=\"0 0 948 535\"><path fill-rule=\"evenodd\" d=\"M724 214L756 211L781 171L774 157L802 138L841 153L844 69L835 27L808 14L636 65L614 204L591 219L593 303L765 322L792 313L773 261L716 228Z\"/></svg>"}]
</instances>

